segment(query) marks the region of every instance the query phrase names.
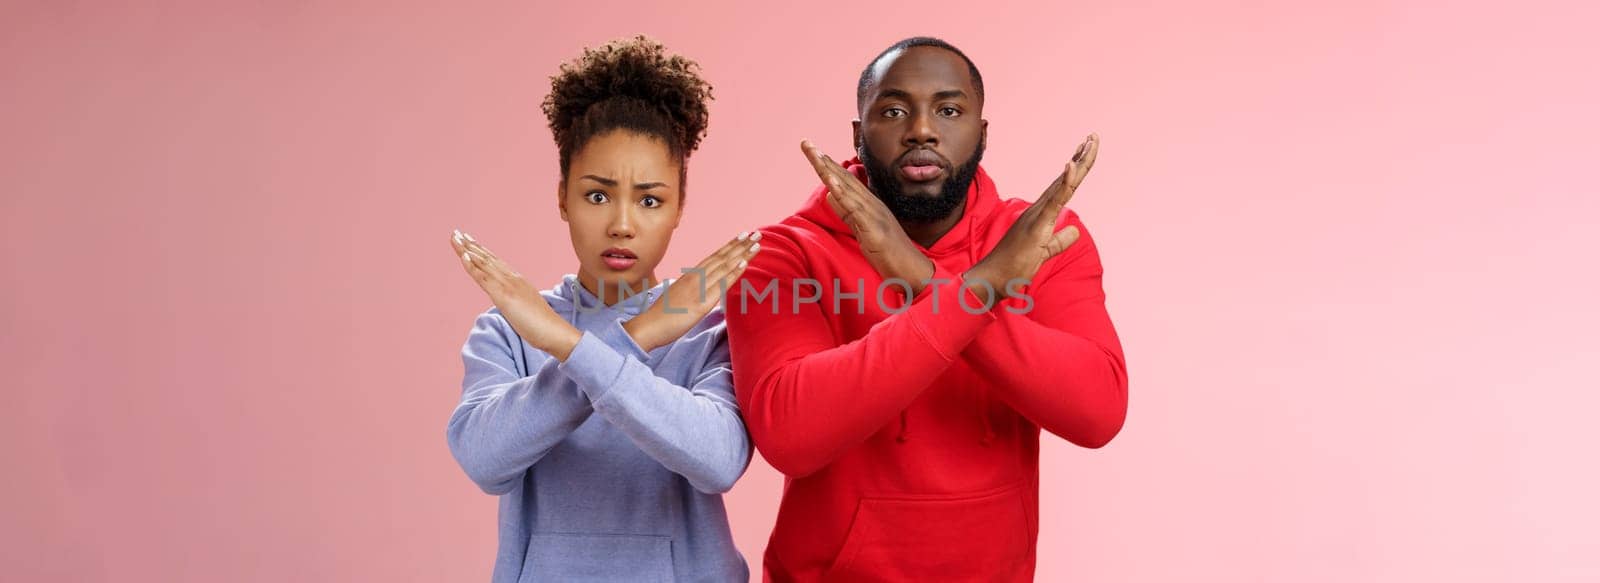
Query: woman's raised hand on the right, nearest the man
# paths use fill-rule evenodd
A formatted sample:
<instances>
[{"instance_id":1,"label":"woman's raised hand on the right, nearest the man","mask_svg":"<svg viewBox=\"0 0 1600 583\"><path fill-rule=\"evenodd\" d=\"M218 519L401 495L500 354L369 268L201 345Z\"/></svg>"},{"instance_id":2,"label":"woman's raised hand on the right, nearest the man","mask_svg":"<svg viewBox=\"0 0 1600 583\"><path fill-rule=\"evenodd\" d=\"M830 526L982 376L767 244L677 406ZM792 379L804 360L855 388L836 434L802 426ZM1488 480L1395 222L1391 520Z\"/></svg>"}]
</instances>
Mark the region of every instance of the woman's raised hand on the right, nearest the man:
<instances>
[{"instance_id":1,"label":"woman's raised hand on the right, nearest the man","mask_svg":"<svg viewBox=\"0 0 1600 583\"><path fill-rule=\"evenodd\" d=\"M758 240L762 240L760 232L741 232L672 282L661 300L622 324L622 328L645 352L678 340L722 303L728 287L739 280L744 267L750 264L749 259L762 250Z\"/></svg>"}]
</instances>

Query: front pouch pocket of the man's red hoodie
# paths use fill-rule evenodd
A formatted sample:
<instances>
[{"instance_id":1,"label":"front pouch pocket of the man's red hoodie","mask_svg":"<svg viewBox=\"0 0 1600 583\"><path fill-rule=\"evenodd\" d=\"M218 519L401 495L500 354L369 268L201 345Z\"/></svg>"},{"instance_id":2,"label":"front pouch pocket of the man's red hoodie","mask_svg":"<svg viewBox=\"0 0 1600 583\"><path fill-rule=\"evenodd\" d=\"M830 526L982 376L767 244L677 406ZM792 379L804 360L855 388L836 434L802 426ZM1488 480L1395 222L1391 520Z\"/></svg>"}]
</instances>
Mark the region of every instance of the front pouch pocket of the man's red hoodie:
<instances>
[{"instance_id":1,"label":"front pouch pocket of the man's red hoodie","mask_svg":"<svg viewBox=\"0 0 1600 583\"><path fill-rule=\"evenodd\" d=\"M966 497L861 498L826 581L1014 581L1032 529L1019 485Z\"/></svg>"}]
</instances>

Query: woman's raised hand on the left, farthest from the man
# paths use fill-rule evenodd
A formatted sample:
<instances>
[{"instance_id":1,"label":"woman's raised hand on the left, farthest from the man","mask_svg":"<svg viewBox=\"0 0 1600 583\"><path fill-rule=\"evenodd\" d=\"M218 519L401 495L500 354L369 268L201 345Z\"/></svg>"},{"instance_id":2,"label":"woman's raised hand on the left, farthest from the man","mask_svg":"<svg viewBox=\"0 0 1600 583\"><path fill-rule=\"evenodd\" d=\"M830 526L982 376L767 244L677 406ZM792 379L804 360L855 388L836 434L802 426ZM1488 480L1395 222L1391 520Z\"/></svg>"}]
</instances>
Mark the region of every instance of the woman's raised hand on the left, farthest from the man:
<instances>
[{"instance_id":1,"label":"woman's raised hand on the left, farthest from the man","mask_svg":"<svg viewBox=\"0 0 1600 583\"><path fill-rule=\"evenodd\" d=\"M555 314L533 283L469 234L456 231L450 247L522 340L566 362L582 333Z\"/></svg>"}]
</instances>

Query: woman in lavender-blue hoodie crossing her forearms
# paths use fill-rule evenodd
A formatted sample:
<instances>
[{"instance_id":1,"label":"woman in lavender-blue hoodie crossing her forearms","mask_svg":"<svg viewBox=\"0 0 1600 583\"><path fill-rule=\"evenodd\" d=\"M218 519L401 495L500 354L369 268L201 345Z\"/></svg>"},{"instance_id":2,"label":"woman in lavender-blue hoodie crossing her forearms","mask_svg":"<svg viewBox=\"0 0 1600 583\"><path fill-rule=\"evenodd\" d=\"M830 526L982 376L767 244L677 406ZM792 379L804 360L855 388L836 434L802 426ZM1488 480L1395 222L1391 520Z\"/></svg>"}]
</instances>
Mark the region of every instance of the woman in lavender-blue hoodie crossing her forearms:
<instances>
[{"instance_id":1,"label":"woman in lavender-blue hoodie crossing her forearms","mask_svg":"<svg viewBox=\"0 0 1600 583\"><path fill-rule=\"evenodd\" d=\"M741 234L672 285L656 264L683 215L710 86L645 37L552 77L557 208L578 274L534 290L472 235L451 247L494 308L462 348L450 450L499 495L494 581L746 581L722 493L750 444L733 396L718 282Z\"/></svg>"}]
</instances>

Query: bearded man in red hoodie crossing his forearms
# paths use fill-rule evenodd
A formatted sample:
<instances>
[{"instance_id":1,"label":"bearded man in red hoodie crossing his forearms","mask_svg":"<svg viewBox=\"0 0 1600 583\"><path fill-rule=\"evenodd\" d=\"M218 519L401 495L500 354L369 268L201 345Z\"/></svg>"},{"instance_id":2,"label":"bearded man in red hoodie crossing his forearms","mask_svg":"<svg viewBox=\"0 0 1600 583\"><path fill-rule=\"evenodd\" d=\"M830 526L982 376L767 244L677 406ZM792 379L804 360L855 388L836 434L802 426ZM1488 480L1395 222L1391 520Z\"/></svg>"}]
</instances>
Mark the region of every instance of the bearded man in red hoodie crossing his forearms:
<instances>
[{"instance_id":1,"label":"bearded man in red hoodie crossing his forearms","mask_svg":"<svg viewBox=\"0 0 1600 583\"><path fill-rule=\"evenodd\" d=\"M822 187L728 296L738 400L787 476L768 581L1032 580L1040 428L1083 447L1122 429L1099 253L1061 216L1099 139L1037 202L1000 200L982 106L955 46L885 50L859 160L802 144Z\"/></svg>"}]
</instances>

